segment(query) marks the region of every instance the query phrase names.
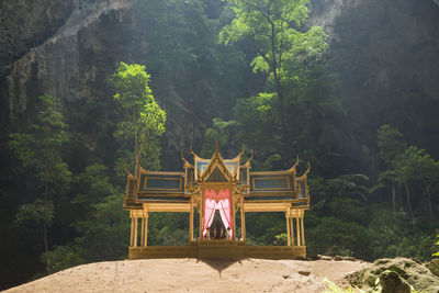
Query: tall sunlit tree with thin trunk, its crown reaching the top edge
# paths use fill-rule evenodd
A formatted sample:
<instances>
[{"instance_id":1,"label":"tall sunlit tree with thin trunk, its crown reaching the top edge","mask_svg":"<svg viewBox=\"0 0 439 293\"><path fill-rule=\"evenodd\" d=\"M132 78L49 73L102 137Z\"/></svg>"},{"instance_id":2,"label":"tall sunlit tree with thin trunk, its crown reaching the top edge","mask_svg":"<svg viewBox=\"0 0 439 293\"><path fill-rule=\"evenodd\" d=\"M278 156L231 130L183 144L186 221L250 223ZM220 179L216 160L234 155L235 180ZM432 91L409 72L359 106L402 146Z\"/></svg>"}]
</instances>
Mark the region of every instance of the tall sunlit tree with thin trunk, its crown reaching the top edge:
<instances>
[{"instance_id":1,"label":"tall sunlit tree with thin trunk, its crown reaching the top edge","mask_svg":"<svg viewBox=\"0 0 439 293\"><path fill-rule=\"evenodd\" d=\"M257 56L252 59L254 71L269 74L280 113L282 140L286 139L284 110L285 84L294 76L291 64L322 54L327 44L322 27L313 26L301 32L306 21L307 0L229 0L235 19L222 29L219 42L228 45L243 40L252 42ZM289 66L290 63L290 66ZM294 69L293 69L294 70Z\"/></svg>"}]
</instances>

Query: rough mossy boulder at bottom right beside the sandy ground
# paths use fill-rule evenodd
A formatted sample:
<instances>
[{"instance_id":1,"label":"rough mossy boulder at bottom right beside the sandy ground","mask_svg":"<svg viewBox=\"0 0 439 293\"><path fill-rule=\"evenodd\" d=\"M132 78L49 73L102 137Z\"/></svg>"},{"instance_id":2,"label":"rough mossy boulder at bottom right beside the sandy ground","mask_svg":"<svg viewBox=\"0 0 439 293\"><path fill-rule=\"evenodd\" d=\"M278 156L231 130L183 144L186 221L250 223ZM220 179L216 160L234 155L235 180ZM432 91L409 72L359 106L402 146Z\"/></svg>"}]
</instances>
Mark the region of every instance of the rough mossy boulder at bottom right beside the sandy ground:
<instances>
[{"instance_id":1,"label":"rough mossy boulder at bottom right beside the sandy ground","mask_svg":"<svg viewBox=\"0 0 439 293\"><path fill-rule=\"evenodd\" d=\"M418 291L439 291L439 278L421 263L407 258L375 260L372 266L348 275L347 279L352 285L370 289L376 285L375 282L379 278L383 290L384 288L401 289L401 291L387 292L405 292L405 283Z\"/></svg>"}]
</instances>

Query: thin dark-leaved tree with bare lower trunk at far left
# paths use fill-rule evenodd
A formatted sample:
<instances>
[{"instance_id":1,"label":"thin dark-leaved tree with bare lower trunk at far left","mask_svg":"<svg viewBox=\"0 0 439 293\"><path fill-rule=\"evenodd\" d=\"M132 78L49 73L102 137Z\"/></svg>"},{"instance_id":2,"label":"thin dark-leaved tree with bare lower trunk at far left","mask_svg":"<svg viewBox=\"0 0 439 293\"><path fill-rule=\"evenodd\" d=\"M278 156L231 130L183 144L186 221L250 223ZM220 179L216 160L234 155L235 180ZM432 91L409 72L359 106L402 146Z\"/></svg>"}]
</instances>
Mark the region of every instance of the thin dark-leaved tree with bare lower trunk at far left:
<instances>
[{"instance_id":1,"label":"thin dark-leaved tree with bare lower trunk at far left","mask_svg":"<svg viewBox=\"0 0 439 293\"><path fill-rule=\"evenodd\" d=\"M65 193L71 181L68 166L63 161L63 146L69 142L67 124L64 122L61 104L58 99L45 94L37 123L27 133L10 135L9 147L18 156L24 168L31 168L40 182L42 196L33 203L19 206L19 223L35 221L43 225L45 250L48 250L48 228L54 218L54 196Z\"/></svg>"}]
</instances>

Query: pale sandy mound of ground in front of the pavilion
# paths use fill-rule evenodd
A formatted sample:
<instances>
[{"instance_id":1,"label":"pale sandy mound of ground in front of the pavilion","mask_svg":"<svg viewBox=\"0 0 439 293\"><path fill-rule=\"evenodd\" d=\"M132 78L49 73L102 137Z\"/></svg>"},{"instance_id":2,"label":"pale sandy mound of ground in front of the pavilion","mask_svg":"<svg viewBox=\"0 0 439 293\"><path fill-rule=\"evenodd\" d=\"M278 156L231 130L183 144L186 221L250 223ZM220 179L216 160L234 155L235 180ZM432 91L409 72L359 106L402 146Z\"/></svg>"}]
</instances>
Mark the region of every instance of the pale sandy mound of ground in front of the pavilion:
<instances>
[{"instance_id":1,"label":"pale sandy mound of ground in front of the pavilion","mask_svg":"<svg viewBox=\"0 0 439 293\"><path fill-rule=\"evenodd\" d=\"M78 266L5 292L322 292L361 261L145 259ZM308 274L308 275L306 275Z\"/></svg>"}]
</instances>

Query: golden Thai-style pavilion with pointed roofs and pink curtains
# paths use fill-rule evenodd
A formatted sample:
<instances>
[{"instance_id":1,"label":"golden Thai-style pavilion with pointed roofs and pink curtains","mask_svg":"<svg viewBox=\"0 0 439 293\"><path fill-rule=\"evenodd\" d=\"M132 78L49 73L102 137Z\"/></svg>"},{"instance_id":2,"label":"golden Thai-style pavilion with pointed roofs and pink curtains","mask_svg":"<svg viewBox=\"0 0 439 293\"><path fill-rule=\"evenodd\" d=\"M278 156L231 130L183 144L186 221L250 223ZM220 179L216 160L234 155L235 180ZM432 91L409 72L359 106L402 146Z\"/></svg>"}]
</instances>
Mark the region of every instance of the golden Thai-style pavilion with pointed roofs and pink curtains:
<instances>
[{"instance_id":1,"label":"golden Thai-style pavilion with pointed roofs and pink curtains","mask_svg":"<svg viewBox=\"0 0 439 293\"><path fill-rule=\"evenodd\" d=\"M132 219L130 259L306 256L303 217L309 209L309 164L297 177L299 158L289 170L251 171L252 153L245 164L244 150L233 159L224 159L217 147L210 159L191 154L192 162L181 156L184 170L180 172L137 166L137 176L127 174L123 207ZM155 212L189 213L188 246L148 246L148 215ZM284 213L286 246L248 246L246 213L252 212Z\"/></svg>"}]
</instances>

